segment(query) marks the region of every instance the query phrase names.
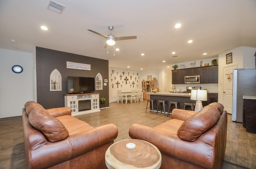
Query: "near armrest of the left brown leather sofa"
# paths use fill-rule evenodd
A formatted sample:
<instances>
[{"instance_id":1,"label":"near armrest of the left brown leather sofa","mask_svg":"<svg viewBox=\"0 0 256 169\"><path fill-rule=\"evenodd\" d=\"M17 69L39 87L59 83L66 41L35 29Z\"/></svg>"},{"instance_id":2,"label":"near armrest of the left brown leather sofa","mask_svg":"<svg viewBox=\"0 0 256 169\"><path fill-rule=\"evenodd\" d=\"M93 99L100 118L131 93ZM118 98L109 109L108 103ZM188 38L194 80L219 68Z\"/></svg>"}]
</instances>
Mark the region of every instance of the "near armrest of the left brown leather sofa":
<instances>
[{"instance_id":1,"label":"near armrest of the left brown leather sofa","mask_svg":"<svg viewBox=\"0 0 256 169\"><path fill-rule=\"evenodd\" d=\"M38 166L48 168L64 161L74 159L93 149L100 147L114 139L118 135L118 130L114 124L106 124L91 130L86 130L68 136L66 139L54 143L48 142L46 145L31 151L32 168ZM54 161L52 161L54 159Z\"/></svg>"}]
</instances>

